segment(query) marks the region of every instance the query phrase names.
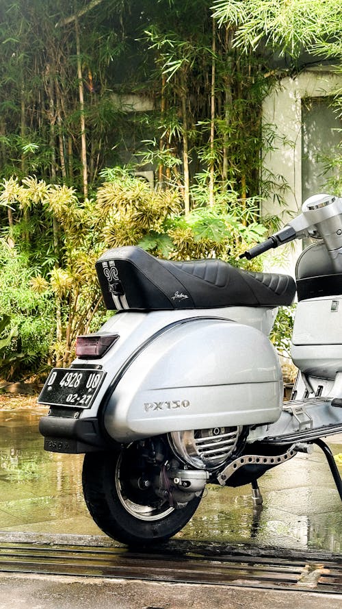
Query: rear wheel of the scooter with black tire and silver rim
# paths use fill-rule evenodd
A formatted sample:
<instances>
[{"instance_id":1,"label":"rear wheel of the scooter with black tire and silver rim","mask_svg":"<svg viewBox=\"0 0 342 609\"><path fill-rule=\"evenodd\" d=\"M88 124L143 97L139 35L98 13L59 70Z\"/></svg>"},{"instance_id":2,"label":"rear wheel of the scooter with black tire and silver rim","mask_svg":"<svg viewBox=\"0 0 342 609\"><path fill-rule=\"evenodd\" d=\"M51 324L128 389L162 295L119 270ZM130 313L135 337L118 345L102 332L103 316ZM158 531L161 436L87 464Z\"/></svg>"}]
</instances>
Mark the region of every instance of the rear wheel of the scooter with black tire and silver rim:
<instances>
[{"instance_id":1,"label":"rear wheel of the scooter with black tire and silver rim","mask_svg":"<svg viewBox=\"0 0 342 609\"><path fill-rule=\"evenodd\" d=\"M146 546L165 541L186 525L201 497L172 508L153 491L129 484L132 467L129 447L86 453L82 482L88 510L98 527L121 543Z\"/></svg>"}]
</instances>

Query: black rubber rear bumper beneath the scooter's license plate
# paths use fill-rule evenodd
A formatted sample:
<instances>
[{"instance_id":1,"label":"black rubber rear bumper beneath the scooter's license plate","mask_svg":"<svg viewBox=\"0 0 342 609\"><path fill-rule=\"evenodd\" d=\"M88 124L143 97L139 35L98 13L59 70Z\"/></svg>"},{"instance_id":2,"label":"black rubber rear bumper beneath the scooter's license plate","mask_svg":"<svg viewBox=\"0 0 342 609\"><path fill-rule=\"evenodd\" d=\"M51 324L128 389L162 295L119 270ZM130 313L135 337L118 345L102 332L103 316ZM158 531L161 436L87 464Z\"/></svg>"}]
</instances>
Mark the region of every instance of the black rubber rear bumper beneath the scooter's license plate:
<instances>
[{"instance_id":1,"label":"black rubber rear bumper beneath the scooter's license plate","mask_svg":"<svg viewBox=\"0 0 342 609\"><path fill-rule=\"evenodd\" d=\"M53 453L88 453L108 448L98 419L70 419L49 414L39 421L44 449Z\"/></svg>"}]
</instances>

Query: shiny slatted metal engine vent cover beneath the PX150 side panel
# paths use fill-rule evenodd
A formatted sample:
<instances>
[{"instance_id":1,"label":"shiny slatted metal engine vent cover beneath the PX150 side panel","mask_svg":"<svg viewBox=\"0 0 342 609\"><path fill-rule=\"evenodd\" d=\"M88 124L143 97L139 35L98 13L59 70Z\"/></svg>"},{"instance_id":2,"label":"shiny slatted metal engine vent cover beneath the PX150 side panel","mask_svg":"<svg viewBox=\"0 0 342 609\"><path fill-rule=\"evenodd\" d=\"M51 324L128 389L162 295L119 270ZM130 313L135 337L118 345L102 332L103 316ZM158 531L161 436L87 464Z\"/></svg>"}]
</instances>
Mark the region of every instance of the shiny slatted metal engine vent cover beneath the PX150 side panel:
<instances>
[{"instance_id":1,"label":"shiny slatted metal engine vent cover beneath the PX150 side panel","mask_svg":"<svg viewBox=\"0 0 342 609\"><path fill-rule=\"evenodd\" d=\"M211 427L206 430L170 432L169 442L183 463L197 469L215 469L233 453L241 427Z\"/></svg>"}]
</instances>

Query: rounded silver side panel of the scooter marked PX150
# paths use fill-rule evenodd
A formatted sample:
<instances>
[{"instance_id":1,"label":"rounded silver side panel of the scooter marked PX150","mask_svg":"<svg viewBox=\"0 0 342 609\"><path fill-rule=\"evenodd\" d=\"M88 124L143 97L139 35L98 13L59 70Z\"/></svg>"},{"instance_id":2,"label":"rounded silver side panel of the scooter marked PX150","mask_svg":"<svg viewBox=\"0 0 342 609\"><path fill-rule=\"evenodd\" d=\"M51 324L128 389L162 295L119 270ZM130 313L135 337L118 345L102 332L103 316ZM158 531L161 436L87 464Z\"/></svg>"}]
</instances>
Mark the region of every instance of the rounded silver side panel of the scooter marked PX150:
<instances>
[{"instance_id":1,"label":"rounded silver side panel of the scooter marked PX150","mask_svg":"<svg viewBox=\"0 0 342 609\"><path fill-rule=\"evenodd\" d=\"M231 321L192 319L140 353L118 382L104 423L118 441L213 425L276 421L282 374L268 338Z\"/></svg>"}]
</instances>

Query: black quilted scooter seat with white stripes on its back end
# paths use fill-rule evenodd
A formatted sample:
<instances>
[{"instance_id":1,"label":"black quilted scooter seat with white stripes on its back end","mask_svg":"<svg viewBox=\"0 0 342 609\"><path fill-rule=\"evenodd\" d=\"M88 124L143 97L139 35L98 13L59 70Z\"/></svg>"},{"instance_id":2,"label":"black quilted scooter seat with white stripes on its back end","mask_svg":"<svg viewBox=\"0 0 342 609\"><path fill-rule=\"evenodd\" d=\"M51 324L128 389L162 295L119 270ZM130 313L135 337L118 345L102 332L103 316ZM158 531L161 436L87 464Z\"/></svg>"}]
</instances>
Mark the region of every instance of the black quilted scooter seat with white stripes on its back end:
<instances>
[{"instance_id":1,"label":"black quilted scooter seat with white stripes on its back end","mask_svg":"<svg viewBox=\"0 0 342 609\"><path fill-rule=\"evenodd\" d=\"M160 260L135 246L109 249L96 271L110 310L277 307L295 297L290 275L243 271L213 258Z\"/></svg>"}]
</instances>

